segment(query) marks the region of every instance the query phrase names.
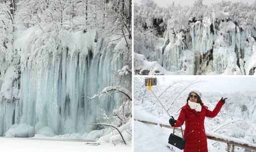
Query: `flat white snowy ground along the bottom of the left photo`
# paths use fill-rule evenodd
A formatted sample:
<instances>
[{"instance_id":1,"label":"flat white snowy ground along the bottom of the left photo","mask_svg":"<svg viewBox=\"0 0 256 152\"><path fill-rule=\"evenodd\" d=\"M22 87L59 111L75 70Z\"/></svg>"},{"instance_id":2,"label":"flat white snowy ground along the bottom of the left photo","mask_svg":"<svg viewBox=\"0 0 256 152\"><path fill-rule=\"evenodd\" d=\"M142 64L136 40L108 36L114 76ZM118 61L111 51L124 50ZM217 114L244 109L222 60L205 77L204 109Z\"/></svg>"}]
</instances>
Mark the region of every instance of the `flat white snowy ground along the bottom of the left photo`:
<instances>
[{"instance_id":1,"label":"flat white snowy ground along the bottom of the left photo","mask_svg":"<svg viewBox=\"0 0 256 152\"><path fill-rule=\"evenodd\" d=\"M131 146L113 144L90 146L85 143L0 137L0 152L131 152Z\"/></svg>"}]
</instances>

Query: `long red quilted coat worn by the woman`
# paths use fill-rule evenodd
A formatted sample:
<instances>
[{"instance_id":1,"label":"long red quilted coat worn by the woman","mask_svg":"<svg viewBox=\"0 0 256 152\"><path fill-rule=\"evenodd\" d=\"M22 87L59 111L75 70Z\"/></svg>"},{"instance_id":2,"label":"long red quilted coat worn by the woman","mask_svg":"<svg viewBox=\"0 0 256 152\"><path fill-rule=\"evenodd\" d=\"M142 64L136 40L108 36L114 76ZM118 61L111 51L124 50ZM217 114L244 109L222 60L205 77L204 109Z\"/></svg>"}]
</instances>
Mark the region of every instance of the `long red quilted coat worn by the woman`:
<instances>
[{"instance_id":1,"label":"long red quilted coat worn by the woman","mask_svg":"<svg viewBox=\"0 0 256 152\"><path fill-rule=\"evenodd\" d=\"M187 103L182 107L180 116L174 125L174 127L180 127L186 122L186 128L184 131L184 138L186 145L184 152L208 152L207 140L204 129L204 118L215 117L224 103L219 101L213 111L208 110L208 107L201 104L202 109L200 112L196 112L191 109ZM180 125L181 124L181 125Z\"/></svg>"}]
</instances>

